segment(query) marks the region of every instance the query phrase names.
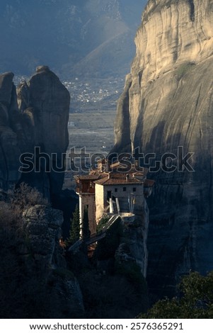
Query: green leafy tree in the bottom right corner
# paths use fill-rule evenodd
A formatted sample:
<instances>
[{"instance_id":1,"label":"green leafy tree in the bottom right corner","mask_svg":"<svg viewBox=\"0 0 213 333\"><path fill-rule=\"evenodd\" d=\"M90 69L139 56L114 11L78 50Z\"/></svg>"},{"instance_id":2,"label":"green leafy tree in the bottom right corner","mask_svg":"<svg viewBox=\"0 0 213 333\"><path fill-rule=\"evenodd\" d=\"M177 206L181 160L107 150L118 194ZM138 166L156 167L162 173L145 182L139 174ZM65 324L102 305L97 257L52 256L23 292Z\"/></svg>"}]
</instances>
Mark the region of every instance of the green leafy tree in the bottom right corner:
<instances>
[{"instance_id":1,"label":"green leafy tree in the bottom right corner","mask_svg":"<svg viewBox=\"0 0 213 333\"><path fill-rule=\"evenodd\" d=\"M178 286L180 297L159 300L139 318L211 319L213 317L213 271L207 276L193 272Z\"/></svg>"}]
</instances>

